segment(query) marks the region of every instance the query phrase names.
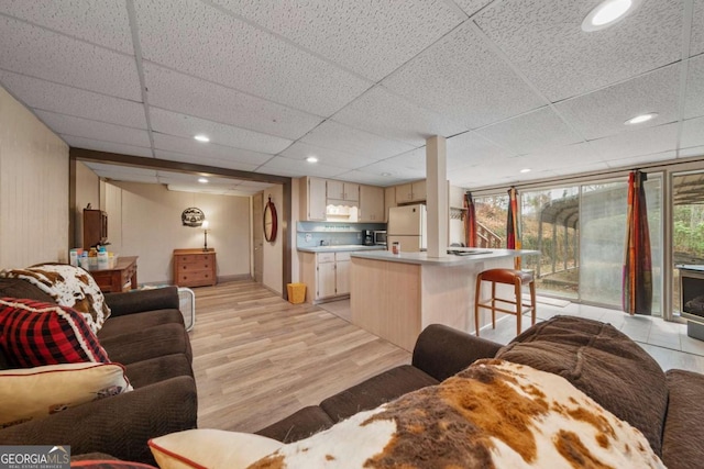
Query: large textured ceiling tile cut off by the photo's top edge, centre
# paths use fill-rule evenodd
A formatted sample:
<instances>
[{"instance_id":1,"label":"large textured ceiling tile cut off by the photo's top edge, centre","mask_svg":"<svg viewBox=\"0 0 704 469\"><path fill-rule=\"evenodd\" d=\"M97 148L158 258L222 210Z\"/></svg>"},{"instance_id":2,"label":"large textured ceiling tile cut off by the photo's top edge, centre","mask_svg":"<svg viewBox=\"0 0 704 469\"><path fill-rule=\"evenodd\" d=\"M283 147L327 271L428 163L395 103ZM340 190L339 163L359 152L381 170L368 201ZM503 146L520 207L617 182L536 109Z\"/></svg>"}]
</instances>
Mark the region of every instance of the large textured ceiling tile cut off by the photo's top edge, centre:
<instances>
[{"instance_id":1,"label":"large textured ceiling tile cut off by the photo's top edge, centre","mask_svg":"<svg viewBox=\"0 0 704 469\"><path fill-rule=\"evenodd\" d=\"M442 0L215 2L373 81L465 19Z\"/></svg>"}]
</instances>

